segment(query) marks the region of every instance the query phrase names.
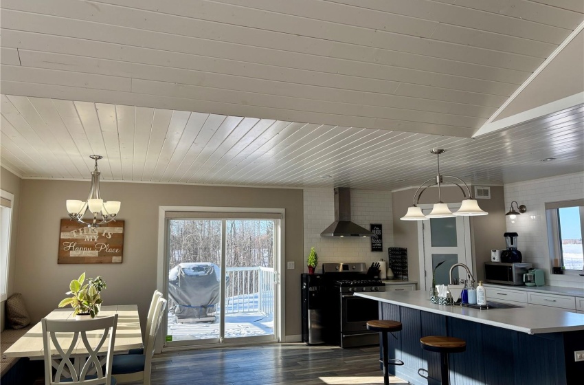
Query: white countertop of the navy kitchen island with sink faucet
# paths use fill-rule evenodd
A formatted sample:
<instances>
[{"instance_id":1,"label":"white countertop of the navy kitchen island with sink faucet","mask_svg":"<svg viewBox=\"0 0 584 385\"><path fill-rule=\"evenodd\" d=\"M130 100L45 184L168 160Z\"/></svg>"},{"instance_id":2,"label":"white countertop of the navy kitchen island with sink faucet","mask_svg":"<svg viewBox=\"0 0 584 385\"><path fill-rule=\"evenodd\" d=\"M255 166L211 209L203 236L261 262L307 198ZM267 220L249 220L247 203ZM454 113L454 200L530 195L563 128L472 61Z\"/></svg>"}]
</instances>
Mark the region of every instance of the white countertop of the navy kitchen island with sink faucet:
<instances>
[{"instance_id":1,"label":"white countertop of the navy kitchen island with sink faucet","mask_svg":"<svg viewBox=\"0 0 584 385\"><path fill-rule=\"evenodd\" d=\"M550 307L550 309L519 307L516 309L479 310L456 305L434 305L430 303L428 292L420 290L415 292L355 293L355 296L528 334L584 330L584 314L570 313L555 307Z\"/></svg>"}]
</instances>

